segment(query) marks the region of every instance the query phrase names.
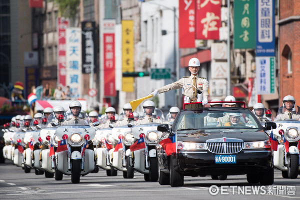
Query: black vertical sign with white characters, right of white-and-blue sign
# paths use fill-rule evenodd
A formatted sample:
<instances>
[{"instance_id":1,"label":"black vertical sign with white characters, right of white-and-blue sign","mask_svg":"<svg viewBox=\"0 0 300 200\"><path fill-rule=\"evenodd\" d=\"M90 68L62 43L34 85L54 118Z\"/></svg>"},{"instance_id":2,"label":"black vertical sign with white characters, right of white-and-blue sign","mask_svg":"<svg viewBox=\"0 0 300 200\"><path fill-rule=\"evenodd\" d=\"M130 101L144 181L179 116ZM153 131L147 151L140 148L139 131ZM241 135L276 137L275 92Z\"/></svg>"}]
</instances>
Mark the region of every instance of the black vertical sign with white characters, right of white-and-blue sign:
<instances>
[{"instance_id":1,"label":"black vertical sign with white characters, right of white-and-blue sign","mask_svg":"<svg viewBox=\"0 0 300 200\"><path fill-rule=\"evenodd\" d=\"M95 71L95 56L94 56L94 38L95 38L95 22L83 21L82 28L82 73L89 74L93 65Z\"/></svg>"}]
</instances>

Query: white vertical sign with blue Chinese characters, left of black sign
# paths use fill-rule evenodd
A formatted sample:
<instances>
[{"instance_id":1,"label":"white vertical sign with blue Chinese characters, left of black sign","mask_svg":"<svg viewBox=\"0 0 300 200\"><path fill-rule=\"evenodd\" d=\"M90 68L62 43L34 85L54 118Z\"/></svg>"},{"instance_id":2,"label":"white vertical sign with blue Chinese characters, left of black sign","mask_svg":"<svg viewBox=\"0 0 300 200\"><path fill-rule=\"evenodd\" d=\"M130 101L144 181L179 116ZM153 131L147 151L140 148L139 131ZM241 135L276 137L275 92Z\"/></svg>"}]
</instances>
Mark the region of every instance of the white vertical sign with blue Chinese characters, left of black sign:
<instances>
[{"instance_id":1,"label":"white vertical sign with blue Chinese characters, left of black sign","mask_svg":"<svg viewBox=\"0 0 300 200\"><path fill-rule=\"evenodd\" d=\"M66 29L66 85L75 98L81 98L81 28Z\"/></svg>"}]
</instances>

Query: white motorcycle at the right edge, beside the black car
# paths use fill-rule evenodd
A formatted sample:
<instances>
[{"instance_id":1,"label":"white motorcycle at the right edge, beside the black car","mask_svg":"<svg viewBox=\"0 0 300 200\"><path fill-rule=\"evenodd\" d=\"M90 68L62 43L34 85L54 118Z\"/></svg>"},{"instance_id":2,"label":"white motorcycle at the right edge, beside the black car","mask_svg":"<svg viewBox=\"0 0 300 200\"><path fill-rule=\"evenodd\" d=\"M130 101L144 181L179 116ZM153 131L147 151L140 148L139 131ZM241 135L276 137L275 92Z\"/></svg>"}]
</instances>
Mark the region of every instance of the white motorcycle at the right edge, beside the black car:
<instances>
[{"instance_id":1,"label":"white motorcycle at the right edge, beside the black car","mask_svg":"<svg viewBox=\"0 0 300 200\"><path fill-rule=\"evenodd\" d=\"M281 171L283 178L296 179L299 168L300 121L286 119L276 121L273 135L278 141L277 151L273 152L274 167ZM284 145L285 140L285 145Z\"/></svg>"}]
</instances>

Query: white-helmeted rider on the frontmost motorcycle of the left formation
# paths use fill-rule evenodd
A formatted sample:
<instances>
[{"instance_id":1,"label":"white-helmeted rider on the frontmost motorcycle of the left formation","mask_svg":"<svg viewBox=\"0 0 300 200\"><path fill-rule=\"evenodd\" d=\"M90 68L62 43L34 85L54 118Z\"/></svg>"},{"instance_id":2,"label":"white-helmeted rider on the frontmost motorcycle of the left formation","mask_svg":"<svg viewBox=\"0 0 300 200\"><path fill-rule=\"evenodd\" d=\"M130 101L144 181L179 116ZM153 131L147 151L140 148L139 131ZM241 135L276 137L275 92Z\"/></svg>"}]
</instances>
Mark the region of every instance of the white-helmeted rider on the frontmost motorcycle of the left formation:
<instances>
[{"instance_id":1,"label":"white-helmeted rider on the frontmost motorcycle of the left formation","mask_svg":"<svg viewBox=\"0 0 300 200\"><path fill-rule=\"evenodd\" d=\"M69 109L71 115L69 115L68 119L66 119L62 126L68 126L71 124L80 124L80 125L85 125L85 116L80 115L81 111L81 103L79 101L72 101L69 104Z\"/></svg>"}]
</instances>

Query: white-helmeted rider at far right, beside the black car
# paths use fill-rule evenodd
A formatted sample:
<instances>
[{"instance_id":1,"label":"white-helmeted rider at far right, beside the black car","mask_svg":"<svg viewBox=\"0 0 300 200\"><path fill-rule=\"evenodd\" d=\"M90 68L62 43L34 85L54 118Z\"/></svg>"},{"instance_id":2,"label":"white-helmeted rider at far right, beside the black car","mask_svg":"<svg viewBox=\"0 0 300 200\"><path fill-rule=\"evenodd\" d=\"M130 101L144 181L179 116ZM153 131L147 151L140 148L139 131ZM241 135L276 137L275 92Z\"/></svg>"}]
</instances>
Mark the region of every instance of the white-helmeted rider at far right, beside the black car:
<instances>
[{"instance_id":1,"label":"white-helmeted rider at far right, beside the black car","mask_svg":"<svg viewBox=\"0 0 300 200\"><path fill-rule=\"evenodd\" d=\"M284 113L280 113L276 116L276 118L274 119L274 122L276 121L281 121L281 120L285 120L285 119L297 119L299 120L300 115L296 114L292 109L295 106L295 98L291 95L287 95L282 99L282 105L285 108L285 112Z\"/></svg>"}]
</instances>

